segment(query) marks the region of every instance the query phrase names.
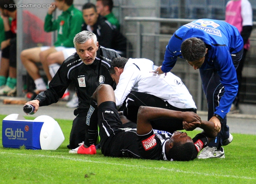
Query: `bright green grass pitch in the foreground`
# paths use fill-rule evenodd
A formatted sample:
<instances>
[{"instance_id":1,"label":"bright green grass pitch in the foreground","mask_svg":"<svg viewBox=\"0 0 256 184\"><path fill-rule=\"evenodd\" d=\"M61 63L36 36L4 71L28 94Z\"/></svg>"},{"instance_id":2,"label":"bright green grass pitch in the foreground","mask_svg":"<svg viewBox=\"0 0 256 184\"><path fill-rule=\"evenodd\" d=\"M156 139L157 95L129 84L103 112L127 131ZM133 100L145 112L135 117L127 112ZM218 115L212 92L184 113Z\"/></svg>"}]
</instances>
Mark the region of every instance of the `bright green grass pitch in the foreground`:
<instances>
[{"instance_id":1,"label":"bright green grass pitch in the foreground","mask_svg":"<svg viewBox=\"0 0 256 184\"><path fill-rule=\"evenodd\" d=\"M1 122L4 117L0 115ZM151 161L104 157L100 151L69 154L66 145L72 121L56 121L65 141L55 151L4 148L0 137L0 183L256 183L255 135L232 134L233 142L224 147L225 159Z\"/></svg>"}]
</instances>

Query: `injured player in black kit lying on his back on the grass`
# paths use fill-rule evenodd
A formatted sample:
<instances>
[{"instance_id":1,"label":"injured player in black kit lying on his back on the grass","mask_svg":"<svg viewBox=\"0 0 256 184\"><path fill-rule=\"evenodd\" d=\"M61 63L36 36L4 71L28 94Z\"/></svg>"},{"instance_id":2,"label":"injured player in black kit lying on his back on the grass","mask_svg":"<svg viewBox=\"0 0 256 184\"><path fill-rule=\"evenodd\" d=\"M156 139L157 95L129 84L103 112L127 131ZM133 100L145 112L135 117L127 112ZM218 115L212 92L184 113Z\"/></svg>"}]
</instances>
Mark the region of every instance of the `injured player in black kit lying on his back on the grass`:
<instances>
[{"instance_id":1,"label":"injured player in black kit lying on his back on the grass","mask_svg":"<svg viewBox=\"0 0 256 184\"><path fill-rule=\"evenodd\" d=\"M187 133L154 130L150 121L158 118L176 118L183 121L184 129L196 127L204 131L193 139ZM95 119L98 118L98 125ZM166 122L171 123L171 122ZM216 137L214 123L201 121L194 112L180 112L162 108L141 106L137 125L119 116L114 90L101 84L94 92L86 119L86 139L80 147L69 153L96 154L95 138L99 126L102 154L110 157L133 157L152 160L190 161ZM137 128L137 129L136 129Z\"/></svg>"}]
</instances>

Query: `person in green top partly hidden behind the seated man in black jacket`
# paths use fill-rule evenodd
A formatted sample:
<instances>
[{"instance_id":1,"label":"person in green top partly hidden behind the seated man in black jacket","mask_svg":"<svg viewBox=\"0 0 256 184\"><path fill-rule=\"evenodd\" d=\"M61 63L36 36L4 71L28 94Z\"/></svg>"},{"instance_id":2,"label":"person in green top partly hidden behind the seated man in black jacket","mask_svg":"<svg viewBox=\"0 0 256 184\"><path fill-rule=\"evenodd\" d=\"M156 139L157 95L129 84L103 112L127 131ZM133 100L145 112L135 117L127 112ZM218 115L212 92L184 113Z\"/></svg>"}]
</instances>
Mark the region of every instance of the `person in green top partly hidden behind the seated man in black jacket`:
<instances>
[{"instance_id":1,"label":"person in green top partly hidden behind the seated man in black jacket","mask_svg":"<svg viewBox=\"0 0 256 184\"><path fill-rule=\"evenodd\" d=\"M120 30L120 23L112 13L112 0L96 0L97 13L105 17L116 29Z\"/></svg>"}]
</instances>

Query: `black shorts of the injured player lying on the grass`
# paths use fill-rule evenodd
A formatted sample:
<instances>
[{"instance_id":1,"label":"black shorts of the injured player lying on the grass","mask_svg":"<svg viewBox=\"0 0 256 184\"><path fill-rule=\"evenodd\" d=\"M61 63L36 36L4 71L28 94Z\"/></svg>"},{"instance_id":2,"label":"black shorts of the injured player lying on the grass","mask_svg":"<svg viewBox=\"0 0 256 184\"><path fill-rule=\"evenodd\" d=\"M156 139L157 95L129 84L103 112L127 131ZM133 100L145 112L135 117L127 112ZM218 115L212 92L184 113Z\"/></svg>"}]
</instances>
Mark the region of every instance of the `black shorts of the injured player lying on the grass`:
<instances>
[{"instance_id":1,"label":"black shorts of the injured player lying on the grass","mask_svg":"<svg viewBox=\"0 0 256 184\"><path fill-rule=\"evenodd\" d=\"M98 125L103 155L140 158L136 130L122 125L114 102L98 106Z\"/></svg>"}]
</instances>

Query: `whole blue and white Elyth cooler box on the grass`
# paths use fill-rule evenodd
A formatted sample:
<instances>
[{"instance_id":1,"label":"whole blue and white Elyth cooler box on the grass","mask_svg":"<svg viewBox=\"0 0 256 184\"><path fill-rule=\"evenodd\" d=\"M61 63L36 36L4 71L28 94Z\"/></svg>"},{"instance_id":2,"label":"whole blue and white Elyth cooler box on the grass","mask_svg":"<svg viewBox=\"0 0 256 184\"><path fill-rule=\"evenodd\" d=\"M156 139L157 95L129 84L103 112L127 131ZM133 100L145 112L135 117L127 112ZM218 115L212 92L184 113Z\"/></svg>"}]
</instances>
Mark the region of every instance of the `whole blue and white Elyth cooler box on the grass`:
<instances>
[{"instance_id":1,"label":"whole blue and white Elyth cooler box on the grass","mask_svg":"<svg viewBox=\"0 0 256 184\"><path fill-rule=\"evenodd\" d=\"M3 147L56 150L64 141L57 121L47 115L26 120L18 114L10 114L2 122Z\"/></svg>"}]
</instances>

